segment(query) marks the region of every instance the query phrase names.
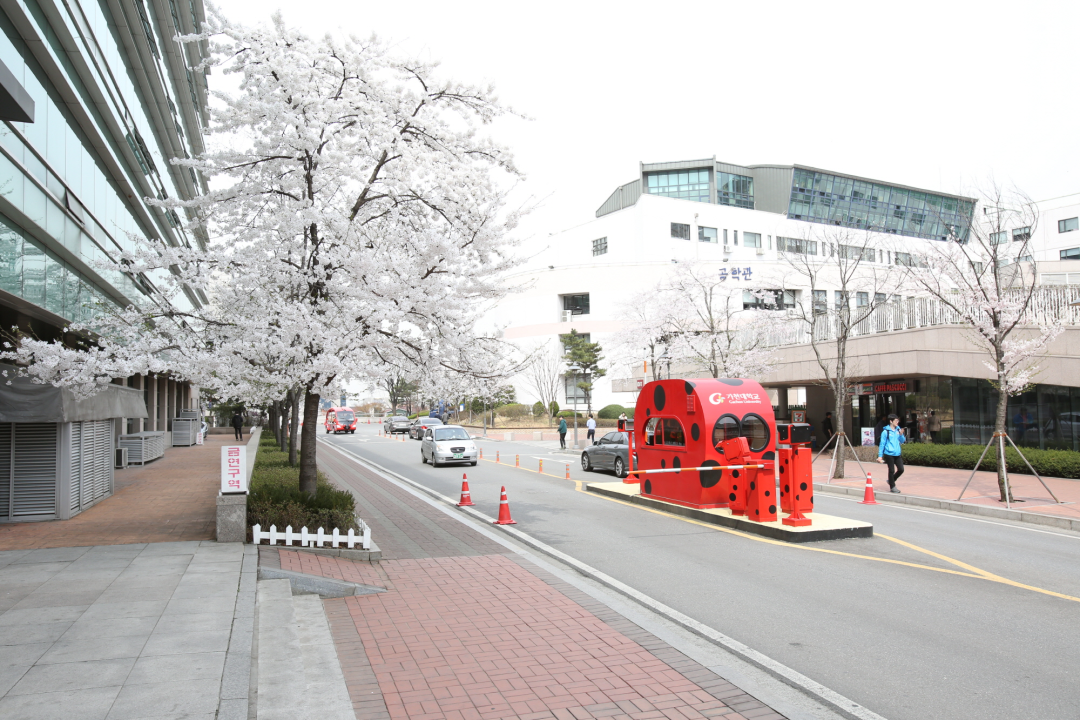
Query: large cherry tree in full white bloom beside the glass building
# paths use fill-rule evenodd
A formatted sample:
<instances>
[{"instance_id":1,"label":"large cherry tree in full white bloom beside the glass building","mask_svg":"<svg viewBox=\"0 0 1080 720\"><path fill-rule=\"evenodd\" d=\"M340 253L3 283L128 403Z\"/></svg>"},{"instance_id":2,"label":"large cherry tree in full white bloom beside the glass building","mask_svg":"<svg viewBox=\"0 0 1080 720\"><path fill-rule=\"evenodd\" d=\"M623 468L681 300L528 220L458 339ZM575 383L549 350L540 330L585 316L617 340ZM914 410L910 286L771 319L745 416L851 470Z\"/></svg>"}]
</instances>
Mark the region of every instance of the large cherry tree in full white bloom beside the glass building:
<instances>
[{"instance_id":1,"label":"large cherry tree in full white bloom beside the glass building","mask_svg":"<svg viewBox=\"0 0 1080 720\"><path fill-rule=\"evenodd\" d=\"M214 178L185 208L206 250L144 241L122 259L153 293L73 329L87 352L23 339L9 355L41 381L91 393L113 377L170 370L256 404L301 395L300 487L315 488L319 400L383 366L433 378L503 378L477 337L478 309L513 264L504 207L517 171L477 132L508 110L490 87L443 78L376 39L312 39L275 15L248 27L214 14L219 72L213 148L175 159ZM208 302L191 309L185 287ZM411 375L411 373L410 373Z\"/></svg>"}]
</instances>

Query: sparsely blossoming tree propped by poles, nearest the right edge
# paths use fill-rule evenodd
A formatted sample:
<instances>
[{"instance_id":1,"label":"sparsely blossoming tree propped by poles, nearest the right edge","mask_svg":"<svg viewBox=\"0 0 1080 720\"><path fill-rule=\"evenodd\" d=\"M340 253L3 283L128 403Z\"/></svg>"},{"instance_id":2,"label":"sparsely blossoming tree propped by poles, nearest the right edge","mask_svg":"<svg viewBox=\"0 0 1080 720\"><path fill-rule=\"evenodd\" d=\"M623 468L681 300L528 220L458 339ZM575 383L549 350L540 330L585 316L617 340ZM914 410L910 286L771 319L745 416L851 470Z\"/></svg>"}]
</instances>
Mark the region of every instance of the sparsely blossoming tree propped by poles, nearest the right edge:
<instances>
[{"instance_id":1,"label":"sparsely blossoming tree propped by poles, nearest the right edge","mask_svg":"<svg viewBox=\"0 0 1080 720\"><path fill-rule=\"evenodd\" d=\"M1038 357L1063 328L1032 312L1038 276L1031 234L1039 221L1038 205L1023 192L998 186L981 194L982 214L968 227L954 228L951 242L935 244L926 256L927 268L914 280L971 328L970 340L986 353L984 364L998 391L998 490L1001 502L1015 502L1004 463L1009 397L1031 385Z\"/></svg>"}]
</instances>

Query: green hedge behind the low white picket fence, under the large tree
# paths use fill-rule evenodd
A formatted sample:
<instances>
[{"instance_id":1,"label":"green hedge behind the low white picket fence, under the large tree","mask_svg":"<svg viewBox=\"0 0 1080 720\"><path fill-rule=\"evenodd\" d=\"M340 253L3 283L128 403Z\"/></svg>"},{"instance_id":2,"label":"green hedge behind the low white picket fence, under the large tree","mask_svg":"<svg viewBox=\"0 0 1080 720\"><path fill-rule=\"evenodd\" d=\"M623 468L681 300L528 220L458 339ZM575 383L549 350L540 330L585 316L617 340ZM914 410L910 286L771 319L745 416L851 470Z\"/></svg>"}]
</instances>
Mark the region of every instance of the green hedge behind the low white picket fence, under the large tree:
<instances>
[{"instance_id":1,"label":"green hedge behind the low white picket fence, under the large tree","mask_svg":"<svg viewBox=\"0 0 1080 720\"><path fill-rule=\"evenodd\" d=\"M300 468L288 464L288 452L282 452L273 433L267 432L259 438L255 456L247 494L247 525L360 531L352 494L335 488L322 473L314 498L300 492Z\"/></svg>"}]
</instances>

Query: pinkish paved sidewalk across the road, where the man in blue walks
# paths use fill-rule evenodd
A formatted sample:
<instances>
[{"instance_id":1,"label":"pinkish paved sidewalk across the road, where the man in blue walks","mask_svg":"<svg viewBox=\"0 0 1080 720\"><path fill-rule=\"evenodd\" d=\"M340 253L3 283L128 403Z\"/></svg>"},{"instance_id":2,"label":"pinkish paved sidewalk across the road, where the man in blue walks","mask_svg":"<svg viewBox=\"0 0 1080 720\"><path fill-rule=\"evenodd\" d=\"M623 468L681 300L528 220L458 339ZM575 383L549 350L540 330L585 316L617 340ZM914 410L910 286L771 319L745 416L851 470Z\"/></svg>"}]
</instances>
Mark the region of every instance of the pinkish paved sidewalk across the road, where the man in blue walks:
<instances>
[{"instance_id":1,"label":"pinkish paved sidewalk across the road, where the man in blue walks","mask_svg":"<svg viewBox=\"0 0 1080 720\"><path fill-rule=\"evenodd\" d=\"M828 480L829 459L819 458L813 464L814 483L827 483L839 487L863 488L866 478L859 468L859 463L853 460L845 462L845 475L842 480ZM874 480L875 492L886 494L888 499L889 485L888 467L877 462L863 463L863 466L870 473ZM896 483L901 492L907 495L930 498L934 500L947 500L956 502L960 497L968 478L971 477L970 470L954 470L951 467L926 467L922 465L905 465L904 475ZM1039 484L1034 475L1009 474L1009 484L1013 488L1013 495L1024 502L1013 503L1013 510L1025 513L1037 513L1039 515L1052 515L1070 519L1080 519L1080 480L1071 480L1062 477L1043 477L1043 481L1053 491L1057 499L1064 504L1054 503L1053 498ZM964 504L983 505L988 507L1005 508L1003 502L998 498L998 476L997 473L978 472L968 486L960 501Z\"/></svg>"}]
</instances>

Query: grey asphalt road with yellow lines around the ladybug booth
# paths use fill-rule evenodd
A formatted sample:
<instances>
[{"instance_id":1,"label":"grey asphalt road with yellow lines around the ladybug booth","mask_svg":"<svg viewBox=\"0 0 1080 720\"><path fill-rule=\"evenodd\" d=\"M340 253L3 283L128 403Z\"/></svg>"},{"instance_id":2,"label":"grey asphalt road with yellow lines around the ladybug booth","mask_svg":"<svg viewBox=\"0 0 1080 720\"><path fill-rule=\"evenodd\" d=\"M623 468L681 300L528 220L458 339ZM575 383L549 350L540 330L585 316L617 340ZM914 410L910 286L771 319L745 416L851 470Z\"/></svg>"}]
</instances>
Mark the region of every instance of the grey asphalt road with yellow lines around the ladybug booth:
<instances>
[{"instance_id":1,"label":"grey asphalt road with yellow lines around the ladybug booth","mask_svg":"<svg viewBox=\"0 0 1080 720\"><path fill-rule=\"evenodd\" d=\"M1080 717L1080 535L818 495L876 536L778 545L582 492L615 478L528 444L432 468L375 425L320 438L446 495L467 472L492 517L504 485L519 530L890 720Z\"/></svg>"}]
</instances>

